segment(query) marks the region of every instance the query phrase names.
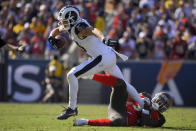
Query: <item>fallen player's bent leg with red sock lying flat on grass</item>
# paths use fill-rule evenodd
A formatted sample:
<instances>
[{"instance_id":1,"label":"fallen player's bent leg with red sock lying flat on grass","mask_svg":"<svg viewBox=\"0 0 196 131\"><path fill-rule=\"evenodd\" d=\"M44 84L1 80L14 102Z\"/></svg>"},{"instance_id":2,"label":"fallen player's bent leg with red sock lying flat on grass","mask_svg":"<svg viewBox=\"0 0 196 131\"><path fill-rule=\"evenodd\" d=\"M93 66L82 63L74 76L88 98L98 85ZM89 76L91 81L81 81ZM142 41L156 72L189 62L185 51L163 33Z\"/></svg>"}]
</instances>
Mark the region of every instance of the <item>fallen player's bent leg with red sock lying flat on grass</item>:
<instances>
[{"instance_id":1,"label":"fallen player's bent leg with red sock lying flat on grass","mask_svg":"<svg viewBox=\"0 0 196 131\"><path fill-rule=\"evenodd\" d=\"M76 119L74 126L92 125L92 126L125 126L126 121L126 83L122 79L115 78L112 83L113 90L108 108L109 119Z\"/></svg>"}]
</instances>

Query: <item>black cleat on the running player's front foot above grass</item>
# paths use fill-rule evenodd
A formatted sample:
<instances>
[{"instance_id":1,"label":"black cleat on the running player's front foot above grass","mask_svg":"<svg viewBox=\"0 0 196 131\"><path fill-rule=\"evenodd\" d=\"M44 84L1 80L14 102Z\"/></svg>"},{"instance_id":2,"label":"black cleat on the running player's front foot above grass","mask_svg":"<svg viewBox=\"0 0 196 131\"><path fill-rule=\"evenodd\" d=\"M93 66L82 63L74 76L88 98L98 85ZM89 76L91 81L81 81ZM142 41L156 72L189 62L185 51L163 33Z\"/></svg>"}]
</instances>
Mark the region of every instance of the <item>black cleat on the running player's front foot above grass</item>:
<instances>
[{"instance_id":1,"label":"black cleat on the running player's front foot above grass","mask_svg":"<svg viewBox=\"0 0 196 131\"><path fill-rule=\"evenodd\" d=\"M78 115L78 109L76 108L75 110L73 110L70 107L68 107L67 109L64 110L64 112L61 115L57 116L57 119L64 120L71 116L76 116L76 115Z\"/></svg>"}]
</instances>

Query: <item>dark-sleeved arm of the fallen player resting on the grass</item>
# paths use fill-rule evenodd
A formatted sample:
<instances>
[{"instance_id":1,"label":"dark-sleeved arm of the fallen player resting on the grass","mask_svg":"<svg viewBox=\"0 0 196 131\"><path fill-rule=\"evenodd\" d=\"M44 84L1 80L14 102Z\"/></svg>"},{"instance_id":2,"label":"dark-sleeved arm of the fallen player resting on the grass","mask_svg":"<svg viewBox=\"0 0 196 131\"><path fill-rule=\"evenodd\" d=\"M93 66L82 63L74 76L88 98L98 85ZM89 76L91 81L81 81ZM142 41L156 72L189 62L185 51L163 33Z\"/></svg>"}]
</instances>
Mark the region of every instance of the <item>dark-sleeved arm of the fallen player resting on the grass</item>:
<instances>
[{"instance_id":1,"label":"dark-sleeved arm of the fallen player resting on the grass","mask_svg":"<svg viewBox=\"0 0 196 131\"><path fill-rule=\"evenodd\" d=\"M141 123L145 126L150 127L161 127L165 123L165 117L158 112L158 117L153 118L151 115L143 114L141 115Z\"/></svg>"}]
</instances>

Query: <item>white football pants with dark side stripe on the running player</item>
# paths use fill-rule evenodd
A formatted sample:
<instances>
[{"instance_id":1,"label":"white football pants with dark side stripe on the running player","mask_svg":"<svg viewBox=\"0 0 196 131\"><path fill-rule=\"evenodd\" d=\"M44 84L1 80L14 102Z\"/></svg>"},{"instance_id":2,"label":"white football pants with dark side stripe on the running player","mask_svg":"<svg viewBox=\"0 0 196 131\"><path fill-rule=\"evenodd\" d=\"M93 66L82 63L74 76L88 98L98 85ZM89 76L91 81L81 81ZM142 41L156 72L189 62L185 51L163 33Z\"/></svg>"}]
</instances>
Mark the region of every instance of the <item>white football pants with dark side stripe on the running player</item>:
<instances>
[{"instance_id":1,"label":"white football pants with dark side stripe on the running player","mask_svg":"<svg viewBox=\"0 0 196 131\"><path fill-rule=\"evenodd\" d=\"M75 109L77 107L78 78L93 75L101 71L106 71L117 78L124 79L122 72L116 65L116 54L111 50L106 54L99 55L90 60L84 61L80 65L71 69L67 74L69 82L69 105ZM126 81L125 81L126 82ZM126 82L128 94L143 108L144 102L137 90Z\"/></svg>"}]
</instances>

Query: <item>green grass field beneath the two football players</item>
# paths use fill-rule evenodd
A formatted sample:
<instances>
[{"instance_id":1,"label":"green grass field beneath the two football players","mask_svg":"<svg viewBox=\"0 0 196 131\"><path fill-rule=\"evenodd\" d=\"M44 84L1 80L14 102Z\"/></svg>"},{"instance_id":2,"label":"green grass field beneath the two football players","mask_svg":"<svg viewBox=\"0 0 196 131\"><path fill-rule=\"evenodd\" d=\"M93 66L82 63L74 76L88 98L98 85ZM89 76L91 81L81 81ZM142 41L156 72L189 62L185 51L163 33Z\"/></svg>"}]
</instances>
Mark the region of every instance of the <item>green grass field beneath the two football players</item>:
<instances>
[{"instance_id":1,"label":"green grass field beneath the two football players","mask_svg":"<svg viewBox=\"0 0 196 131\"><path fill-rule=\"evenodd\" d=\"M178 131L196 130L196 108L171 108L164 113L162 128L147 127L74 127L76 118L106 118L106 105L79 105L79 115L57 120L61 104L0 104L0 131Z\"/></svg>"}]
</instances>

